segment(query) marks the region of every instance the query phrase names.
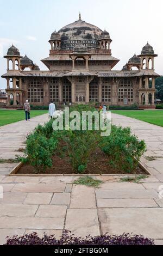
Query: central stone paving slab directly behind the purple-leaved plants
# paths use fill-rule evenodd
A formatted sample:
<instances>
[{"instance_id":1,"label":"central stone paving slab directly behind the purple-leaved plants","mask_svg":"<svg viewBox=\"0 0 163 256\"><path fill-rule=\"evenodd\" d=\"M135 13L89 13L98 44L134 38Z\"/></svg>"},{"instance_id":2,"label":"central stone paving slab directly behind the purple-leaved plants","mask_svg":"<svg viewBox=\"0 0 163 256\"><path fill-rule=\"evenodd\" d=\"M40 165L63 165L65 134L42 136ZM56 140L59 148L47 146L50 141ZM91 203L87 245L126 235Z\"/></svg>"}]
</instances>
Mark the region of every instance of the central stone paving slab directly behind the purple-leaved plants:
<instances>
[{"instance_id":1,"label":"central stone paving slab directly behind the purple-leaved plants","mask_svg":"<svg viewBox=\"0 0 163 256\"><path fill-rule=\"evenodd\" d=\"M99 223L96 209L68 209L66 230L71 230L76 236L99 235Z\"/></svg>"}]
</instances>

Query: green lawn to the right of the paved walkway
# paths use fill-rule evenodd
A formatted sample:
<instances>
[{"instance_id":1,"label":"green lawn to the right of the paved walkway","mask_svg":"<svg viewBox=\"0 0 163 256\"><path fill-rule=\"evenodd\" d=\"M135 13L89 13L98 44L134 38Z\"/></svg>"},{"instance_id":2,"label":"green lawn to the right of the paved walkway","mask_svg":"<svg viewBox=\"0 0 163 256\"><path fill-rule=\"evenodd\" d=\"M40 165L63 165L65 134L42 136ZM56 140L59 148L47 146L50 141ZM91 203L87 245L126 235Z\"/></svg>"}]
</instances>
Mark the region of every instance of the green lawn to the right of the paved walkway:
<instances>
[{"instance_id":1,"label":"green lawn to the right of the paved walkway","mask_svg":"<svg viewBox=\"0 0 163 256\"><path fill-rule=\"evenodd\" d=\"M149 110L149 111L128 111L128 110L114 110L111 111L115 114L126 115L126 117L132 117L145 121L149 124L155 124L163 127L163 110Z\"/></svg>"}]
</instances>

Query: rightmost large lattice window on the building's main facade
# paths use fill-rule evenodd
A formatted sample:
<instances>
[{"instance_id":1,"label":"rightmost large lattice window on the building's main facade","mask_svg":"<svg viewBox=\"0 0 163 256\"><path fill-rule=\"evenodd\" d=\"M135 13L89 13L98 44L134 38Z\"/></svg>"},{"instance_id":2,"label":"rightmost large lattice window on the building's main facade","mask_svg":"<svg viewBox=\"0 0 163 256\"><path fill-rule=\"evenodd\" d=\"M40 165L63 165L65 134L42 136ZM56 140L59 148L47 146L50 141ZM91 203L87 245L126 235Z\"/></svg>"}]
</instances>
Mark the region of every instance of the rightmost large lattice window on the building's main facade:
<instances>
[{"instance_id":1,"label":"rightmost large lattice window on the building's main facade","mask_svg":"<svg viewBox=\"0 0 163 256\"><path fill-rule=\"evenodd\" d=\"M125 105L127 105L128 102L133 102L133 84L128 78L124 78L120 81L118 101L123 102Z\"/></svg>"}]
</instances>

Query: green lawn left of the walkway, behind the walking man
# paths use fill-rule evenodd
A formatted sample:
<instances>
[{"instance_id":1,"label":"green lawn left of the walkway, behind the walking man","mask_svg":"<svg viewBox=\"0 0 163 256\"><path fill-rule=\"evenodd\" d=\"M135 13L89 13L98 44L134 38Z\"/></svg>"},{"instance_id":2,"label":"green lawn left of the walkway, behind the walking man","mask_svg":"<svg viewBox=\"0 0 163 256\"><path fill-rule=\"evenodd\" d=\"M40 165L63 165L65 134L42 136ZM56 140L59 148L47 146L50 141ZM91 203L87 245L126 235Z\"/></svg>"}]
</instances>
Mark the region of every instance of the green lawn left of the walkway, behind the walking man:
<instances>
[{"instance_id":1,"label":"green lawn left of the walkway, behind the walking man","mask_svg":"<svg viewBox=\"0 0 163 256\"><path fill-rule=\"evenodd\" d=\"M30 111L30 118L48 113L47 110L32 110ZM15 123L25 119L23 110L5 110L0 109L0 126Z\"/></svg>"}]
</instances>

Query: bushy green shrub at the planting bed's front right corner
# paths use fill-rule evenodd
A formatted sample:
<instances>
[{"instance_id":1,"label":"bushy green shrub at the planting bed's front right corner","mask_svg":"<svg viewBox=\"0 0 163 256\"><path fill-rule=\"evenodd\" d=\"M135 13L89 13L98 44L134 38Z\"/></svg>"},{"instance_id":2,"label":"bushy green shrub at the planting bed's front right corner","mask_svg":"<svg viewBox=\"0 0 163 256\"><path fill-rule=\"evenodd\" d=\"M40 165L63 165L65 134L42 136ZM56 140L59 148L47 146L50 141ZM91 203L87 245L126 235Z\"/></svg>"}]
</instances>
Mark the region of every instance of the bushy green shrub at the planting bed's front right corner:
<instances>
[{"instance_id":1,"label":"bushy green shrub at the planting bed's front right corner","mask_svg":"<svg viewBox=\"0 0 163 256\"><path fill-rule=\"evenodd\" d=\"M131 135L129 127L122 128L115 125L111 127L111 135L103 137L99 145L108 155L110 165L124 173L134 170L138 166L140 157L146 151L145 142Z\"/></svg>"}]
</instances>

